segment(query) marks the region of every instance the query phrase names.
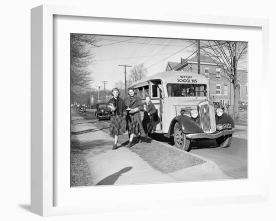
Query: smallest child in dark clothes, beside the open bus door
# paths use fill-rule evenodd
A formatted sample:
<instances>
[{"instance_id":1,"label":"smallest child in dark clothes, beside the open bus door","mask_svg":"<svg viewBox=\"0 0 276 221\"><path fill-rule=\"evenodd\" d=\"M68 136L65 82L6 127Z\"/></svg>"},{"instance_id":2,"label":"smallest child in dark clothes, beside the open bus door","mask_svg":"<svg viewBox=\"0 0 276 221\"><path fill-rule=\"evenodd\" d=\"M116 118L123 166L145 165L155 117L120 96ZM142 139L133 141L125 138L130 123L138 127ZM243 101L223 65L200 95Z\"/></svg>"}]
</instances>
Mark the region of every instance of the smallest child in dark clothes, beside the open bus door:
<instances>
[{"instance_id":1,"label":"smallest child in dark clothes, beside the open bus door","mask_svg":"<svg viewBox=\"0 0 276 221\"><path fill-rule=\"evenodd\" d=\"M155 105L151 102L151 97L146 96L146 102L144 104L144 118L143 118L143 128L148 136L153 130L153 114L156 112Z\"/></svg>"}]
</instances>

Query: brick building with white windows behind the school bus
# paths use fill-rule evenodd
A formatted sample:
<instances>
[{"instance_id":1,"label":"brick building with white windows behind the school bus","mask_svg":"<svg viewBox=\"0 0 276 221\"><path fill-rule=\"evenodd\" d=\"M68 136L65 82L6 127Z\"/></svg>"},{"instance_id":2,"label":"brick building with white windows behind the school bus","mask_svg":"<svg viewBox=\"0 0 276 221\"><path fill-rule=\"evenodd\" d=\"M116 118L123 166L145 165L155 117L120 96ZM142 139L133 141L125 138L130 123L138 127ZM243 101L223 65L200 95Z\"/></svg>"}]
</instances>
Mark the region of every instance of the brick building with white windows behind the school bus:
<instances>
[{"instance_id":1,"label":"brick building with white windows behind the school bus","mask_svg":"<svg viewBox=\"0 0 276 221\"><path fill-rule=\"evenodd\" d=\"M169 61L166 70L182 70L197 73L198 69L198 56L195 55L191 58L181 58L181 62ZM205 75L210 79L210 97L213 102L220 102L223 105L229 103L233 104L234 93L233 85L227 79L226 73L212 61L211 58L201 55L200 56L200 74ZM238 80L240 84L240 101L247 102L247 70L238 70Z\"/></svg>"}]
</instances>

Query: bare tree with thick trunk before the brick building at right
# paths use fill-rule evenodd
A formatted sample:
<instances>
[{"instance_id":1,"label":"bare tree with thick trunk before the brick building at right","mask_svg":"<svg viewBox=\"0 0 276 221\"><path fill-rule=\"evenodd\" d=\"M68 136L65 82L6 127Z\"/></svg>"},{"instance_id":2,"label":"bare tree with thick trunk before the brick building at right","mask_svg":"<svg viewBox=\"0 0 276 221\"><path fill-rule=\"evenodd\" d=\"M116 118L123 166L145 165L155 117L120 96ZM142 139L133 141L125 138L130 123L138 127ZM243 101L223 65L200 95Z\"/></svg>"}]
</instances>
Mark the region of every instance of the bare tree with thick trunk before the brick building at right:
<instances>
[{"instance_id":1,"label":"bare tree with thick trunk before the brick building at right","mask_svg":"<svg viewBox=\"0 0 276 221\"><path fill-rule=\"evenodd\" d=\"M197 45L197 40L192 40ZM247 42L201 40L200 50L224 70L226 79L233 84L233 118L238 118L239 81L237 69L247 55Z\"/></svg>"}]
</instances>

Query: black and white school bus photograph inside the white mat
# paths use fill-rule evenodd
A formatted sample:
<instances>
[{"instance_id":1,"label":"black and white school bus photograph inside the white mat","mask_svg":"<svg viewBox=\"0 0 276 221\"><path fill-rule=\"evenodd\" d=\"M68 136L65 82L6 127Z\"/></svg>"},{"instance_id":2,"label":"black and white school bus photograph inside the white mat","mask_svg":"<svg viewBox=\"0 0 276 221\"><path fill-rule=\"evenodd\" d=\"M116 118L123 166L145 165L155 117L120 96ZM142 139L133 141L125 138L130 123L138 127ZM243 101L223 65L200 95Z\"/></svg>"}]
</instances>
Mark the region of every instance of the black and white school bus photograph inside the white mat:
<instances>
[{"instance_id":1,"label":"black and white school bus photograph inside the white mat","mask_svg":"<svg viewBox=\"0 0 276 221\"><path fill-rule=\"evenodd\" d=\"M71 33L71 187L248 178L247 49Z\"/></svg>"}]
</instances>

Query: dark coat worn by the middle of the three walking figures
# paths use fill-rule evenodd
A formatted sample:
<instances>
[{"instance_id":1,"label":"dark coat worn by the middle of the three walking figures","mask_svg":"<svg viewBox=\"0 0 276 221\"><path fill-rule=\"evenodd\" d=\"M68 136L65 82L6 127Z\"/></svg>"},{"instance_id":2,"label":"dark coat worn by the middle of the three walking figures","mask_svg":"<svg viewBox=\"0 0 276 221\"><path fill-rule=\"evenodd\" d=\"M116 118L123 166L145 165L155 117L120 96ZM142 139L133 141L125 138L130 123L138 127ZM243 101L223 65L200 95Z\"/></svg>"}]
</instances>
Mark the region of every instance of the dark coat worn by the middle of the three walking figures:
<instances>
[{"instance_id":1,"label":"dark coat worn by the middle of the three walking figures","mask_svg":"<svg viewBox=\"0 0 276 221\"><path fill-rule=\"evenodd\" d=\"M125 107L129 107L129 108L136 108L138 107L138 112L135 113L129 113L127 112L126 115L126 121L127 121L127 129L131 128L131 123L134 121L137 121L140 127L140 135L141 136L146 136L145 130L143 128L143 124L142 124L142 118L141 118L141 114L140 111L143 111L144 109L144 105L142 103L142 100L139 96L137 96L136 94L134 94L134 96L130 97L128 96L125 100ZM133 118L135 118L135 120L133 120Z\"/></svg>"}]
</instances>

